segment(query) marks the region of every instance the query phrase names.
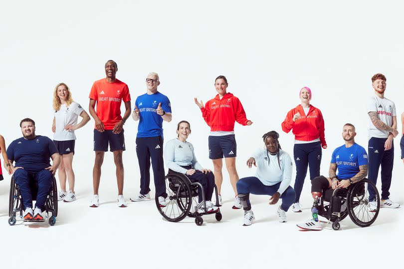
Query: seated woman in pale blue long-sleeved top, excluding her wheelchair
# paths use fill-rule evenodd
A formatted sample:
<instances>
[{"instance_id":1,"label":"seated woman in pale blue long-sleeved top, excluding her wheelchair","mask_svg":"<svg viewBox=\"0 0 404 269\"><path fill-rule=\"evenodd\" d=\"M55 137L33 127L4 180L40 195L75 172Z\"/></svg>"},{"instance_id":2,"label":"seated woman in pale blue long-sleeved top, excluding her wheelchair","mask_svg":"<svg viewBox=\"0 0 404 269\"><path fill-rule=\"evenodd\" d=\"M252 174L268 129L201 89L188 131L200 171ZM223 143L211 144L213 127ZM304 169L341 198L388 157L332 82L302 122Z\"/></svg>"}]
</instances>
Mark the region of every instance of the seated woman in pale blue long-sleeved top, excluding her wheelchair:
<instances>
[{"instance_id":1,"label":"seated woman in pale blue long-sleeved top, excluding her wheelchair","mask_svg":"<svg viewBox=\"0 0 404 269\"><path fill-rule=\"evenodd\" d=\"M187 141L191 134L191 125L188 121L180 121L177 125L178 137L167 142L164 148L166 165L172 171L187 175L192 181L199 182L205 194L206 210L202 207L198 213L213 213L218 207L211 202L214 190L214 176L209 169L202 168L194 153L194 146ZM199 203L202 202L202 192L198 190Z\"/></svg>"}]
</instances>

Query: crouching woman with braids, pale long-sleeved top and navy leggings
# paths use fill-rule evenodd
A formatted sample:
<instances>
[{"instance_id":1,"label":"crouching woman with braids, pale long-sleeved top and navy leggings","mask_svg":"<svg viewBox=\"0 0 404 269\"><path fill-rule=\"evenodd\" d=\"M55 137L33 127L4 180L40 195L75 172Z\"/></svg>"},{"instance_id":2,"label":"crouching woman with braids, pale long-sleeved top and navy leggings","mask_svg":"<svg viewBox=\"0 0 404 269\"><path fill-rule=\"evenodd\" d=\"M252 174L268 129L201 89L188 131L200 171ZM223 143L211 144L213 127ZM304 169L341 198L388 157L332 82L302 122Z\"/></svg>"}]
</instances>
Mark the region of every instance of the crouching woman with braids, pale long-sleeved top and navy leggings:
<instances>
[{"instance_id":1,"label":"crouching woman with braids, pale long-sleeved top and navy leggings","mask_svg":"<svg viewBox=\"0 0 404 269\"><path fill-rule=\"evenodd\" d=\"M279 145L279 134L270 131L262 136L265 148L257 150L247 160L249 168L257 167L255 177L242 178L237 182L237 192L244 209L244 226L255 220L249 200L250 193L271 195L270 205L275 205L279 198L282 204L278 207L279 222L286 222L286 212L295 201L296 193L289 186L292 179L292 159Z\"/></svg>"}]
</instances>

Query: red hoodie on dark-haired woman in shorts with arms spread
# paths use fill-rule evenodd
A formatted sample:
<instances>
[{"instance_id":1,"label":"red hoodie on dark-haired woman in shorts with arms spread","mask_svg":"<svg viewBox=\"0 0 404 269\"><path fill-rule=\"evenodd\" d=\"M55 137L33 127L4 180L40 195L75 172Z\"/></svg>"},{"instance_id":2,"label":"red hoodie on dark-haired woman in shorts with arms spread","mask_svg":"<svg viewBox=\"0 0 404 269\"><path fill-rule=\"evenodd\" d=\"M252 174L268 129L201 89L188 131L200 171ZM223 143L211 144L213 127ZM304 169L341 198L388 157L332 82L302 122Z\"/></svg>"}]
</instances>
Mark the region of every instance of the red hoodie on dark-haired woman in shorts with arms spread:
<instances>
[{"instance_id":1,"label":"red hoodie on dark-haired woman in shorts with arms spread","mask_svg":"<svg viewBox=\"0 0 404 269\"><path fill-rule=\"evenodd\" d=\"M217 94L213 99L206 102L201 108L202 117L210 126L210 131L234 131L234 121L241 125L247 125L244 108L240 100L231 93L226 93L220 100Z\"/></svg>"}]
</instances>

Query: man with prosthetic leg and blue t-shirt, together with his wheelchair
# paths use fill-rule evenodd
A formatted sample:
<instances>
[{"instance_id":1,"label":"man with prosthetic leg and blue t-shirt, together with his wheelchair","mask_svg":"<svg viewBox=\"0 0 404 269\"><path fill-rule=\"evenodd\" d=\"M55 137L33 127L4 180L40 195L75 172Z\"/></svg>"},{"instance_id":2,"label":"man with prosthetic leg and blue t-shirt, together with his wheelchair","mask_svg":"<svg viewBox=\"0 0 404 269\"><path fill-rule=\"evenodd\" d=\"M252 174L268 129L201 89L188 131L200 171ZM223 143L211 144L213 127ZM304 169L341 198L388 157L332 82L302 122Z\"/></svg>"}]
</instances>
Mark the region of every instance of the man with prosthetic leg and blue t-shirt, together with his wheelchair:
<instances>
[{"instance_id":1,"label":"man with prosthetic leg and blue t-shirt, together with his wheelchair","mask_svg":"<svg viewBox=\"0 0 404 269\"><path fill-rule=\"evenodd\" d=\"M333 222L337 221L337 224L348 215L347 209L349 211L349 207L352 209L352 211L349 212L351 219L359 226L369 226L376 219L377 214L371 214L371 216L369 216L367 212L376 212L379 210L379 206L377 202L368 201L366 197L367 193L364 192L365 184L374 186L365 179L368 174L368 154L362 146L355 143L355 136L355 126L350 123L345 124L342 132L345 144L336 148L332 154L329 178L319 176L314 178L311 182L311 194L314 199L311 219L307 222L297 224L297 227L303 230L322 230L322 226L318 220L319 214L321 216L324 215L322 214L324 208L322 207L322 203L320 203L320 200L322 200L320 199L321 197L323 197L323 200L326 200L326 202L330 202L331 200L339 202L339 205L330 205L332 208L329 208L330 210L327 215L328 219ZM361 181L361 184L356 186L354 188L355 190L352 190L354 186L351 185L359 181ZM341 189L339 193L343 194L342 199L334 199L334 197L338 195L338 191L335 191L336 189ZM345 199L348 196L352 197L352 201ZM364 208L355 211L355 207L359 205L363 205ZM357 216L359 211L364 212L363 214L366 213L370 218L363 221L359 220ZM336 219L332 218L331 213L340 215ZM343 217L341 217L341 215L343 215ZM339 229L339 224L337 226L338 228L335 230ZM333 226L333 228L335 227Z\"/></svg>"}]
</instances>

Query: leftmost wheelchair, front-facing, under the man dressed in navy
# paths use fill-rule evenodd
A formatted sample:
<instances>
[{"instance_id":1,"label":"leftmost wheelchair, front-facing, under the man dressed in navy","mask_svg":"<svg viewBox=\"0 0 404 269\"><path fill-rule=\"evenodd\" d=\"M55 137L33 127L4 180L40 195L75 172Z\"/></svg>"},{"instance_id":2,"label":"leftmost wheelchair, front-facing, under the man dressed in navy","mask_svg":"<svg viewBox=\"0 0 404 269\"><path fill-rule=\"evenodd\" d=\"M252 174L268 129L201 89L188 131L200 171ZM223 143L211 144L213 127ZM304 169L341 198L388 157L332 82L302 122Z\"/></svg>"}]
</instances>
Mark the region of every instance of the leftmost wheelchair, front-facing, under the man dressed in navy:
<instances>
[{"instance_id":1,"label":"leftmost wheelchair, front-facing, under the man dressed in navy","mask_svg":"<svg viewBox=\"0 0 404 269\"><path fill-rule=\"evenodd\" d=\"M38 194L38 185L34 180L30 181L32 200L36 200L36 196ZM22 219L22 196L19 191L18 185L14 181L14 176L11 177L10 183L10 196L8 203L8 224L14 225L16 223L16 214L19 213L19 217ZM49 193L46 197L45 202L45 210L46 218L49 216L49 212L52 213L52 216L49 218L48 222L50 226L56 224L57 217L57 185L56 179L53 177L52 187L49 190ZM27 222L24 220L24 222ZM28 222L37 222L37 221L28 221Z\"/></svg>"}]
</instances>

